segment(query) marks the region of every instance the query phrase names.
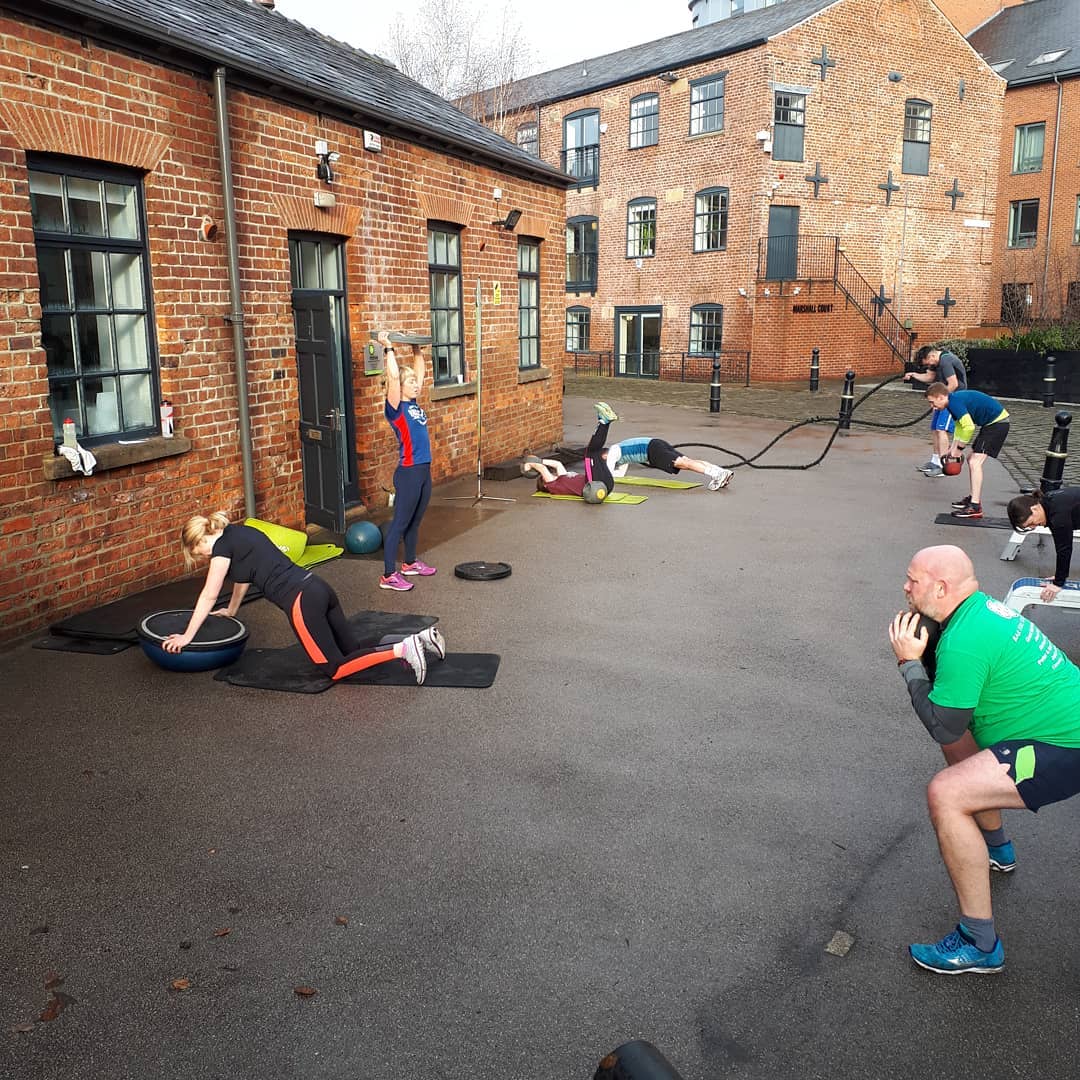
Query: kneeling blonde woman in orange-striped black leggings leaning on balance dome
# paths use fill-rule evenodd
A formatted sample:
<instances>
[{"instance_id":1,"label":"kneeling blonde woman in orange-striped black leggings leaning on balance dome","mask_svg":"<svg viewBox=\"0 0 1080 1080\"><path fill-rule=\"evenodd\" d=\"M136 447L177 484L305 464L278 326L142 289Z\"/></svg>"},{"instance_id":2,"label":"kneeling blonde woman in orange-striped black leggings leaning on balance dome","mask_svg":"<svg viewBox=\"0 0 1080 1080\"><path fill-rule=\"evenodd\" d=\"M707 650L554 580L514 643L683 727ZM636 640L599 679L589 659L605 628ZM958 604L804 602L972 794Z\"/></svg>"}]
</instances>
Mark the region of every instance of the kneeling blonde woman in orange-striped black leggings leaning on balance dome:
<instances>
[{"instance_id":1,"label":"kneeling blonde woman in orange-striped black leggings leaning on balance dome","mask_svg":"<svg viewBox=\"0 0 1080 1080\"><path fill-rule=\"evenodd\" d=\"M210 567L187 629L162 643L166 652L179 652L208 615L234 616L254 584L285 612L308 659L335 681L376 664L402 660L413 669L419 684L428 674L427 653L440 660L446 656L446 640L435 626L395 645L361 648L337 594L322 578L297 566L265 532L249 525L230 525L221 511L210 517L189 518L180 532L180 543L188 567L201 558L208 559ZM226 581L232 582L229 603L212 610Z\"/></svg>"}]
</instances>

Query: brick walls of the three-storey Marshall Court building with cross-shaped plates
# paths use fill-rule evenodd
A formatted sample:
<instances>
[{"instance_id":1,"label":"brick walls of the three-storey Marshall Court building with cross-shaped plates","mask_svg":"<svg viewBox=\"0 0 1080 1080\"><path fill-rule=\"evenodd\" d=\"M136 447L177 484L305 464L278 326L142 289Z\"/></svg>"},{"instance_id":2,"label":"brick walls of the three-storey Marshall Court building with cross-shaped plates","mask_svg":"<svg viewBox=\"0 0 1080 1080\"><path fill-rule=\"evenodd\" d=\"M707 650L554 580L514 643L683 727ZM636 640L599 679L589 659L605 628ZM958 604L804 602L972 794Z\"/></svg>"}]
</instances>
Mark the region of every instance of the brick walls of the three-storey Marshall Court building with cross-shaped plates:
<instances>
[{"instance_id":1,"label":"brick walls of the three-storey Marshall Court building with cross-shaped plates","mask_svg":"<svg viewBox=\"0 0 1080 1080\"><path fill-rule=\"evenodd\" d=\"M810 60L822 45L836 67L821 80ZM727 71L725 130L689 137L689 80ZM889 73L901 75L900 82ZM783 335L758 326L771 306L750 302L756 291L757 245L767 234L769 206L800 207L800 237L838 237L873 288L885 284L893 310L912 321L920 340L959 334L982 322L987 310L991 246L987 230L963 226L971 217L994 219L1003 81L994 75L956 29L927 0L845 0L768 44L697 66L681 66L671 85L656 78L544 106L540 152L557 164L563 118L598 108L602 124L600 183L596 191L570 191L567 216L599 218L599 289L595 297L566 297L566 305L592 310L592 341L613 346L615 309L663 308L662 349L677 355L688 347L690 308L724 305L724 346L750 349ZM959 82L964 82L960 99ZM774 161L756 138L772 122L772 84L809 90L805 160ZM660 95L660 141L630 150L630 100ZM902 174L904 103L917 97L933 106L930 175ZM513 132L526 110L508 118ZM821 170L829 178L813 198L805 177ZM878 185L892 171L901 190L886 205ZM950 208L946 189L958 179L964 198ZM728 247L693 254L693 199L713 186L730 189ZM657 200L654 258L640 269L625 257L626 204ZM957 300L947 320L935 301L946 286ZM744 299L739 288L746 293ZM849 335L847 319L837 339ZM783 361L758 352L755 378L786 377Z\"/></svg>"}]
</instances>

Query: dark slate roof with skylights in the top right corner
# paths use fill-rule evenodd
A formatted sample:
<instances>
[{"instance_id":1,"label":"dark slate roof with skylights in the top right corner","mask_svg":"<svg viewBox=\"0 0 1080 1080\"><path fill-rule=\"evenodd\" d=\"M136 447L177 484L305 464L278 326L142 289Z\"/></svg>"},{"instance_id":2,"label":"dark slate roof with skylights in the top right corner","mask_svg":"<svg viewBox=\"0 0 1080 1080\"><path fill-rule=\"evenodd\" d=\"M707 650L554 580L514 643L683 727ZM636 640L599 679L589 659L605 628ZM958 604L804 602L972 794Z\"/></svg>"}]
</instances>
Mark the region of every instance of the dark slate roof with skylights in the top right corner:
<instances>
[{"instance_id":1,"label":"dark slate roof with skylights in the top right corner","mask_svg":"<svg viewBox=\"0 0 1080 1080\"><path fill-rule=\"evenodd\" d=\"M987 64L1013 62L1000 71L1010 86L1080 75L1080 0L1028 0L1005 8L968 35L968 42ZM1067 52L1058 59L1031 66L1037 56L1062 49Z\"/></svg>"}]
</instances>

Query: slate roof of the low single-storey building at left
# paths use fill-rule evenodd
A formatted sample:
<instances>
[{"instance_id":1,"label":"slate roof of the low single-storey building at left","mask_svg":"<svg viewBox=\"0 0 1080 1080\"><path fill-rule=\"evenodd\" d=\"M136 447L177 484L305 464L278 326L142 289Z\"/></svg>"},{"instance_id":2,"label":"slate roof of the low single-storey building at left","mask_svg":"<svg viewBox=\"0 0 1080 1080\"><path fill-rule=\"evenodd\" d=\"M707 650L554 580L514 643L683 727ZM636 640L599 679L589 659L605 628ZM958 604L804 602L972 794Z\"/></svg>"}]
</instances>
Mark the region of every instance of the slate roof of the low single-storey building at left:
<instances>
[{"instance_id":1,"label":"slate roof of the low single-storey building at left","mask_svg":"<svg viewBox=\"0 0 1080 1080\"><path fill-rule=\"evenodd\" d=\"M544 184L570 183L388 60L251 0L36 0L30 10L35 18L207 75L224 66L231 83L382 134Z\"/></svg>"}]
</instances>

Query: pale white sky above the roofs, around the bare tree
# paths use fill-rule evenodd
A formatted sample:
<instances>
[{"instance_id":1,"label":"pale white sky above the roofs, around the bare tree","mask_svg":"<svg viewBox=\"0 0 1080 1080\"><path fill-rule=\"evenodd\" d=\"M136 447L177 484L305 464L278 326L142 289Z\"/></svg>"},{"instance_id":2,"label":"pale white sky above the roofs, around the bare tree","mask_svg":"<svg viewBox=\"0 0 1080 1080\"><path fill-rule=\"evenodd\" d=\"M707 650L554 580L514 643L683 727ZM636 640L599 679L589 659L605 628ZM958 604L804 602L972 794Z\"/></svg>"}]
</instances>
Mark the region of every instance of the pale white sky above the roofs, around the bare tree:
<instances>
[{"instance_id":1,"label":"pale white sky above the roofs, around the bare tree","mask_svg":"<svg viewBox=\"0 0 1080 1080\"><path fill-rule=\"evenodd\" d=\"M468 2L492 18L502 11L492 0ZM394 18L415 18L419 6L419 0L276 0L286 17L388 57ZM507 0L505 8L535 54L523 75L691 29L687 0Z\"/></svg>"}]
</instances>

